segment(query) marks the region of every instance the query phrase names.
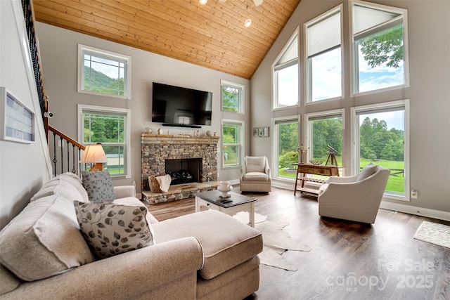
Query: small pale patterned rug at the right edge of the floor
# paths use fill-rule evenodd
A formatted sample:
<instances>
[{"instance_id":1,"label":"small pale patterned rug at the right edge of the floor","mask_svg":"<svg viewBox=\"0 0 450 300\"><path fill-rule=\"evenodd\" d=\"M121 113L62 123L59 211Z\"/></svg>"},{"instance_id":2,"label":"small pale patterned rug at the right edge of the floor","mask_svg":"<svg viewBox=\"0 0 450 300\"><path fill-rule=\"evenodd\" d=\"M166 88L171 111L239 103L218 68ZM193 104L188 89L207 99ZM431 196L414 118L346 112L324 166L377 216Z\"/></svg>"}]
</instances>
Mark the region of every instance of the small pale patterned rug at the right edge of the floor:
<instances>
[{"instance_id":1,"label":"small pale patterned rug at the right edge of the floor","mask_svg":"<svg viewBox=\"0 0 450 300\"><path fill-rule=\"evenodd\" d=\"M450 226L423 221L417 229L414 238L450 248Z\"/></svg>"}]
</instances>

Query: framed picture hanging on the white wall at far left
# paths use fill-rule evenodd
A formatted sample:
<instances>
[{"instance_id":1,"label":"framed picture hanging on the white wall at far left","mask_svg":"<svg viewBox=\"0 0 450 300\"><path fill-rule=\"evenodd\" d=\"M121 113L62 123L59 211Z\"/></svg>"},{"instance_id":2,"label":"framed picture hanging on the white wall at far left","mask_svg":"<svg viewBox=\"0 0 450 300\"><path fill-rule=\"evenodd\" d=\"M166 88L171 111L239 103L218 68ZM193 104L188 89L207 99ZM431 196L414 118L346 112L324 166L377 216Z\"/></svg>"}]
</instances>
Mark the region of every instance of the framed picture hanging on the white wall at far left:
<instances>
[{"instance_id":1,"label":"framed picture hanging on the white wall at far left","mask_svg":"<svg viewBox=\"0 0 450 300\"><path fill-rule=\"evenodd\" d=\"M0 138L17 143L34 143L34 112L17 97L0 86Z\"/></svg>"}]
</instances>

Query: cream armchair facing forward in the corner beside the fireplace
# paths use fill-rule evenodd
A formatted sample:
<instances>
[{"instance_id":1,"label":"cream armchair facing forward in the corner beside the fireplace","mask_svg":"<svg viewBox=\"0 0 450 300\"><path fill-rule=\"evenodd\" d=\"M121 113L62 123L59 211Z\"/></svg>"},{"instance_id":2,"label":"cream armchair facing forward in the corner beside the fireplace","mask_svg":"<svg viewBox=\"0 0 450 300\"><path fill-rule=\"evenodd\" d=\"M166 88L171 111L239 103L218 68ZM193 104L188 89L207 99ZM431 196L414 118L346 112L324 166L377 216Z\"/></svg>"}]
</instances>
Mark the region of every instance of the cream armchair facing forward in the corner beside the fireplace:
<instances>
[{"instance_id":1,"label":"cream armchair facing forward in the corner beside the fireplace","mask_svg":"<svg viewBox=\"0 0 450 300\"><path fill-rule=\"evenodd\" d=\"M269 160L265 156L244 157L240 176L241 192L271 192L272 179Z\"/></svg>"}]
</instances>

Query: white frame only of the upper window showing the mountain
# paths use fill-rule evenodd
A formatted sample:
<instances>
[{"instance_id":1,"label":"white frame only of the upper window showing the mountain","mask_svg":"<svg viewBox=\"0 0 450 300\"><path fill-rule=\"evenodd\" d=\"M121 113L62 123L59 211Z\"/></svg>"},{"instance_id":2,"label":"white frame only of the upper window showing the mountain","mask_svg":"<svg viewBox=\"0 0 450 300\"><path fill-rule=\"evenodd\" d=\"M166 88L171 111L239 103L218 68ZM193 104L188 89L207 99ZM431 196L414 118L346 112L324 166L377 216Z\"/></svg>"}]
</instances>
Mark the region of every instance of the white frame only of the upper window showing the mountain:
<instances>
[{"instance_id":1,"label":"white frame only of the upper window showing the mountain","mask_svg":"<svg viewBox=\"0 0 450 300\"><path fill-rule=\"evenodd\" d=\"M124 63L124 95L115 95L112 93L101 93L96 91L88 91L84 89L84 53L97 55L98 58L114 60ZM120 53L94 48L83 44L78 44L78 76L77 76L77 92L89 93L93 95L108 96L114 98L131 99L131 56L125 56Z\"/></svg>"}]
</instances>

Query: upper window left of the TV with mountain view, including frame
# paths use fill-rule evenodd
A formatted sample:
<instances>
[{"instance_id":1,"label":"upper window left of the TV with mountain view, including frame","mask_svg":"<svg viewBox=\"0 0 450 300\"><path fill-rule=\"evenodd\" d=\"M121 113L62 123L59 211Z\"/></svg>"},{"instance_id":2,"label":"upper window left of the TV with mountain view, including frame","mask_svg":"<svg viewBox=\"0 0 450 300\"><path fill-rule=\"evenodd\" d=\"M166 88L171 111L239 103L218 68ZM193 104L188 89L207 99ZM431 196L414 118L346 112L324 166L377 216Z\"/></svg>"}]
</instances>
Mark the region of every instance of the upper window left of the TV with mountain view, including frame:
<instances>
[{"instance_id":1,"label":"upper window left of the TV with mountain view, including frame","mask_svg":"<svg viewBox=\"0 0 450 300\"><path fill-rule=\"evenodd\" d=\"M130 98L129 56L79 45L78 91Z\"/></svg>"}]
</instances>

